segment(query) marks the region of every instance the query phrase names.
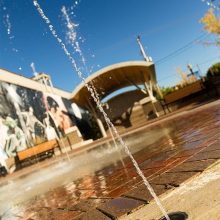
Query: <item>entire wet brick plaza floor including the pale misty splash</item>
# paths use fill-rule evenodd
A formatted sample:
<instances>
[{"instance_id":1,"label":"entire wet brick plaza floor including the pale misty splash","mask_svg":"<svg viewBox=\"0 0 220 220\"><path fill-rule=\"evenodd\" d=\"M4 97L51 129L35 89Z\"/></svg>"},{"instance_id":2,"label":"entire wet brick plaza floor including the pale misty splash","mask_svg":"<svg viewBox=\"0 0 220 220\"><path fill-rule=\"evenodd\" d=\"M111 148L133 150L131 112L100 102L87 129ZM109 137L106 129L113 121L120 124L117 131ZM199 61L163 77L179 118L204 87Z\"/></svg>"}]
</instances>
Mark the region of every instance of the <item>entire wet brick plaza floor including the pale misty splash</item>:
<instances>
[{"instance_id":1,"label":"entire wet brick plaza floor including the pale misty splash","mask_svg":"<svg viewBox=\"0 0 220 220\"><path fill-rule=\"evenodd\" d=\"M219 100L173 116L123 136L157 195L220 158ZM123 218L152 200L121 146L106 142L69 157L1 179L2 219Z\"/></svg>"}]
</instances>

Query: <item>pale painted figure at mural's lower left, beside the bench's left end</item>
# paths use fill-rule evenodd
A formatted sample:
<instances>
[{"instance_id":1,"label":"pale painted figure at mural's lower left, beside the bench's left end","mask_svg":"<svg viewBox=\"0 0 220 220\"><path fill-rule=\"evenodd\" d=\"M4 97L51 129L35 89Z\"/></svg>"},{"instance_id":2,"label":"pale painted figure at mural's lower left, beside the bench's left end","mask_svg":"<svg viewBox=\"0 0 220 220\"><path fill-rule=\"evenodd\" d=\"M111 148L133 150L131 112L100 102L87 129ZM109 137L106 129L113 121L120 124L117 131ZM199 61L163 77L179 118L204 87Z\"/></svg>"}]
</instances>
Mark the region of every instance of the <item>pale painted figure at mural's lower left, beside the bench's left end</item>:
<instances>
[{"instance_id":1,"label":"pale painted figure at mural's lower left, beside the bench's left end","mask_svg":"<svg viewBox=\"0 0 220 220\"><path fill-rule=\"evenodd\" d=\"M16 156L16 152L27 149L24 132L17 125L17 120L7 116L5 125L8 126L7 140L5 144L5 152L8 157Z\"/></svg>"}]
</instances>

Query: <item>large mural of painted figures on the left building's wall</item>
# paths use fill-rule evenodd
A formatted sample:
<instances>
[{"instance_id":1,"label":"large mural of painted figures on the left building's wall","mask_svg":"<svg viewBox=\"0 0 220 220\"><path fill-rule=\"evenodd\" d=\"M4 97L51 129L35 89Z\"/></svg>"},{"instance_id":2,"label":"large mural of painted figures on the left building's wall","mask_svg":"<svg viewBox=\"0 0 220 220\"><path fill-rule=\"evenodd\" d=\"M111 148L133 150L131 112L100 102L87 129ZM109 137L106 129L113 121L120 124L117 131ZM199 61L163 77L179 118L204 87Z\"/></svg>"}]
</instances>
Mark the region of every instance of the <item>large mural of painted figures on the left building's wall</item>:
<instances>
[{"instance_id":1,"label":"large mural of painted figures on the left building's wall","mask_svg":"<svg viewBox=\"0 0 220 220\"><path fill-rule=\"evenodd\" d=\"M70 102L0 82L0 163L18 151L63 137L74 126L64 100Z\"/></svg>"}]
</instances>

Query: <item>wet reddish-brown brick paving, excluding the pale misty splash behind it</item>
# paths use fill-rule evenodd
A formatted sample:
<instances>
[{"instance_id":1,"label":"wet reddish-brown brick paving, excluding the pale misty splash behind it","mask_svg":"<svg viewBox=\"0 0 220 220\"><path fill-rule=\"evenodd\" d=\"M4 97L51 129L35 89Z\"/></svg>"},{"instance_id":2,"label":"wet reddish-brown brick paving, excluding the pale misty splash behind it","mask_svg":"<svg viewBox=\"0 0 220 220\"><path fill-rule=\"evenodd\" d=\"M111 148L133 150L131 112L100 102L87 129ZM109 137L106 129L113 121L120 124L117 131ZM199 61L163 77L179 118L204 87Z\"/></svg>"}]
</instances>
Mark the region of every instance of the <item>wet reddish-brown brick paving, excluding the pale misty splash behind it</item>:
<instances>
[{"instance_id":1,"label":"wet reddish-brown brick paving, excluding the pale misty splash behind it","mask_svg":"<svg viewBox=\"0 0 220 220\"><path fill-rule=\"evenodd\" d=\"M220 106L152 125L140 131L140 137L164 128L163 137L154 136L154 142L147 144L148 136L143 141L146 147L133 154L157 195L178 187L220 158ZM167 132L168 128L172 132ZM134 134L128 136L131 140L136 138ZM107 220L109 216L125 216L151 200L130 158L126 157L18 204L15 216L29 220Z\"/></svg>"}]
</instances>

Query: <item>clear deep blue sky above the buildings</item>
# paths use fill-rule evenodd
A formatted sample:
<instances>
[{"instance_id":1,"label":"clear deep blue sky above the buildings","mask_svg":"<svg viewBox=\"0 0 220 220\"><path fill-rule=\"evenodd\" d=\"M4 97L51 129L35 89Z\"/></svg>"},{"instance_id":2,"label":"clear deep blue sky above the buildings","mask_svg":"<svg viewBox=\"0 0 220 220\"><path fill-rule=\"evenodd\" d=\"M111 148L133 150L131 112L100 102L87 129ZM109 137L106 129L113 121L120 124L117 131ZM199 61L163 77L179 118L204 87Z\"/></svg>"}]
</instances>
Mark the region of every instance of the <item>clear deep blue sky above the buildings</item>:
<instances>
[{"instance_id":1,"label":"clear deep blue sky above the buildings","mask_svg":"<svg viewBox=\"0 0 220 220\"><path fill-rule=\"evenodd\" d=\"M195 70L199 65L204 74L211 64L220 60L219 48L204 46L203 42L213 40L213 36L207 35L179 54L158 62L204 33L199 20L208 7L201 0L38 2L85 77L114 63L142 60L136 42L139 34L146 52L156 64L157 80L161 86L180 81L177 67L187 71L188 63ZM87 67L65 40L67 26L62 6L66 7L71 20L78 24L77 39ZM31 0L0 0L0 15L0 68L31 77L30 64L34 62L36 70L50 74L58 88L72 91L81 82Z\"/></svg>"}]
</instances>

